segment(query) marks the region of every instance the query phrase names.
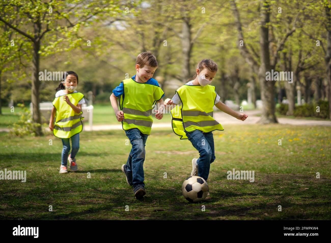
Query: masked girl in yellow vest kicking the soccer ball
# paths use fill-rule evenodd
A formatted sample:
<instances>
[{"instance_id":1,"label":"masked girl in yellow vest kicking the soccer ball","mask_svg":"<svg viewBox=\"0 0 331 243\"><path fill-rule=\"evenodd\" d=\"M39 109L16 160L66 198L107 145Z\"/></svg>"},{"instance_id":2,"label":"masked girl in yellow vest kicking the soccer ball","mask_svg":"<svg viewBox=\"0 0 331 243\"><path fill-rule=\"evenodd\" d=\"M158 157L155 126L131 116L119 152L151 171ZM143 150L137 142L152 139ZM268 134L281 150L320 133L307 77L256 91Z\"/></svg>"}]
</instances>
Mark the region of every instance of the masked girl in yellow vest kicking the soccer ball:
<instances>
[{"instance_id":1,"label":"masked girl in yellow vest kicking the soccer ball","mask_svg":"<svg viewBox=\"0 0 331 243\"><path fill-rule=\"evenodd\" d=\"M238 113L219 101L215 87L209 85L215 77L217 64L211 59L198 63L193 80L179 87L173 98L166 99L164 105L174 105L171 110L172 128L180 139L188 139L199 151L200 157L192 159L191 176L200 176L206 181L210 164L215 159L214 130L224 130L213 119L213 106L245 121L247 115ZM177 106L176 106L177 105Z\"/></svg>"}]
</instances>

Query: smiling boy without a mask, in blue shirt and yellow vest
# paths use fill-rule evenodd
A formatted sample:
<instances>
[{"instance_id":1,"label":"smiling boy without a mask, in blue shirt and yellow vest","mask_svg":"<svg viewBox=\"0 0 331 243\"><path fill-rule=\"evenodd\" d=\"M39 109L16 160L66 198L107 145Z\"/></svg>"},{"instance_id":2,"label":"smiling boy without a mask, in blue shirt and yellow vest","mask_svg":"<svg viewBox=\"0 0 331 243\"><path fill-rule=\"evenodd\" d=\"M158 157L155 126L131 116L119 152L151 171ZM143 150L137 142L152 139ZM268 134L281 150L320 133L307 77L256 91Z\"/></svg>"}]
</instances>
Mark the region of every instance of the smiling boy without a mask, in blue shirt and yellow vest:
<instances>
[{"instance_id":1,"label":"smiling boy without a mask, in blue shirt and yellow vest","mask_svg":"<svg viewBox=\"0 0 331 243\"><path fill-rule=\"evenodd\" d=\"M134 196L137 199L145 194L144 168L145 145L151 133L153 123L152 107L157 102L163 106L164 92L158 82L152 78L158 67L156 57L151 52L142 52L136 59L136 75L123 80L113 89L110 96L116 118L122 122L122 128L132 144L131 152L126 164L121 167L126 182L133 186ZM119 108L117 98L119 97ZM155 117L162 119L162 106L156 111Z\"/></svg>"}]
</instances>

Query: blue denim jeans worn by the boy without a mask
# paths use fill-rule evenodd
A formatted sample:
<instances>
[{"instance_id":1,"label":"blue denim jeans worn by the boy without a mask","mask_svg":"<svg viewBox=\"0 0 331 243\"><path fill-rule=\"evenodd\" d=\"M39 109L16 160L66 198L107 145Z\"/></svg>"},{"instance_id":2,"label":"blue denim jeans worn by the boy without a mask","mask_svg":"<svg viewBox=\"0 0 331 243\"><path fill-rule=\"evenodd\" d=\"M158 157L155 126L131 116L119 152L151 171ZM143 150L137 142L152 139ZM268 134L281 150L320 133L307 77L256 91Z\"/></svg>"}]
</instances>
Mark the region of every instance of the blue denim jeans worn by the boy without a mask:
<instances>
[{"instance_id":1,"label":"blue denim jeans worn by the boy without a mask","mask_svg":"<svg viewBox=\"0 0 331 243\"><path fill-rule=\"evenodd\" d=\"M126 136L129 138L132 148L129 157L126 161L126 171L132 173L133 189L137 186L145 186L144 184L144 160L145 146L148 135L140 132L138 128L125 130Z\"/></svg>"}]
</instances>

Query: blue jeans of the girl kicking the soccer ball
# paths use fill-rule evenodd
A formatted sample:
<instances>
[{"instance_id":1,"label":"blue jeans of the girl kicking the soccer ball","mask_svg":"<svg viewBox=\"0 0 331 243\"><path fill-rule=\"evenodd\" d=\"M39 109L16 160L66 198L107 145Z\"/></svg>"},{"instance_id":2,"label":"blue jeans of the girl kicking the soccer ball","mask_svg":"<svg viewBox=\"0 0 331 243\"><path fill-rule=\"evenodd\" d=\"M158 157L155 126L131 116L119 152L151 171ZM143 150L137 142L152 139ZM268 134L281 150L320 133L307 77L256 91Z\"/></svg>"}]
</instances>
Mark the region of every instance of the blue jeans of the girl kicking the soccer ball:
<instances>
[{"instance_id":1,"label":"blue jeans of the girl kicking the soccer ball","mask_svg":"<svg viewBox=\"0 0 331 243\"><path fill-rule=\"evenodd\" d=\"M185 133L188 140L200 154L200 157L197 160L198 176L207 181L210 164L215 160L213 132L204 133L200 130L194 130L193 132L185 131Z\"/></svg>"}]
</instances>

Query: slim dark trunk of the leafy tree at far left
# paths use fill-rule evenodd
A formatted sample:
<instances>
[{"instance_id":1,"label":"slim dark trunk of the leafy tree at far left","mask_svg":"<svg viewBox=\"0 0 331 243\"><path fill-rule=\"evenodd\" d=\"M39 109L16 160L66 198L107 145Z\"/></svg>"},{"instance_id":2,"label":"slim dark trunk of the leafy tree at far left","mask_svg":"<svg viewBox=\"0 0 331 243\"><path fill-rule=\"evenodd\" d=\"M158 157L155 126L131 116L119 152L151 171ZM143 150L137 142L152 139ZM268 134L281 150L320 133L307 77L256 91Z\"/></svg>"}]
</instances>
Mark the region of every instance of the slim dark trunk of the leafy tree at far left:
<instances>
[{"instance_id":1,"label":"slim dark trunk of the leafy tree at far left","mask_svg":"<svg viewBox=\"0 0 331 243\"><path fill-rule=\"evenodd\" d=\"M32 57L32 87L31 87L31 102L32 102L32 110L33 110L33 121L40 124L40 126L36 130L36 135L41 136L42 127L41 127L41 118L40 118L40 109L39 109L39 50L40 50L40 43L34 42L33 43L33 57Z\"/></svg>"}]
</instances>

